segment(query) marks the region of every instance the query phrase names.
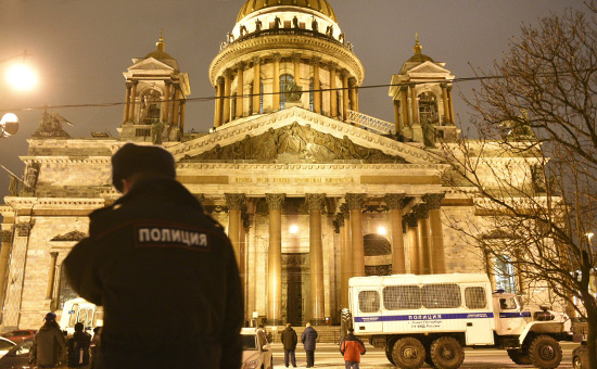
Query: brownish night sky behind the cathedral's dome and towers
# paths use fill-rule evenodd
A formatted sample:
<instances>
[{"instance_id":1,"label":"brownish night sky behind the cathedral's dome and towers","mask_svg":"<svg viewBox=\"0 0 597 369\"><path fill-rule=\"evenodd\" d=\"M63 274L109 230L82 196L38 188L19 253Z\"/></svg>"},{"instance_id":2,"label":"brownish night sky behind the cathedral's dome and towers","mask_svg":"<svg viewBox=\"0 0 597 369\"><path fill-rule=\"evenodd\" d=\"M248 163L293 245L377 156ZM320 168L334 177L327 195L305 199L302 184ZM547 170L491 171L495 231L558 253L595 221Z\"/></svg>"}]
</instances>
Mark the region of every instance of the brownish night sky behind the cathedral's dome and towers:
<instances>
[{"instance_id":1,"label":"brownish night sky behind the cathedral's dome and towers","mask_svg":"<svg viewBox=\"0 0 597 369\"><path fill-rule=\"evenodd\" d=\"M412 55L415 33L423 53L445 62L456 77L472 68L490 71L501 59L522 23L536 24L566 8L584 10L582 0L329 0L346 40L365 66L365 82L389 84ZM189 98L212 97L207 78L219 43L232 29L244 0L0 0L0 61L23 53L38 71L35 91L10 90L0 64L0 114L49 105L116 103L125 99L123 72L132 58L155 50L164 29L166 52L190 76ZM457 93L471 94L473 82L455 89L455 112L466 127L469 110ZM389 88L359 93L365 114L393 122ZM52 109L50 109L52 110ZM54 110L75 127L63 127L73 138L92 131L117 136L124 106ZM21 119L14 137L0 139L0 164L22 175L20 155L37 129L42 110L15 112ZM213 102L187 104L188 130L213 125ZM0 198L8 193L9 175L0 168ZM2 203L2 201L0 201Z\"/></svg>"}]
</instances>

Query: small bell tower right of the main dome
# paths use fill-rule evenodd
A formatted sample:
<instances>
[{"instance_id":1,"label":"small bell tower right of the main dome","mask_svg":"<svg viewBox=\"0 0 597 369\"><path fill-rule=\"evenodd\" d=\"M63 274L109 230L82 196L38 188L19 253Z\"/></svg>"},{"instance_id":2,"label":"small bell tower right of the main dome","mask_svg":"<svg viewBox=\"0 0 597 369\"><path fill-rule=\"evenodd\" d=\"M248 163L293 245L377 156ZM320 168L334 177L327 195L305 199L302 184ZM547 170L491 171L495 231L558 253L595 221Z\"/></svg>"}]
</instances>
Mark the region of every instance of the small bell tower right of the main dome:
<instances>
[{"instance_id":1,"label":"small bell tower right of the main dome","mask_svg":"<svg viewBox=\"0 0 597 369\"><path fill-rule=\"evenodd\" d=\"M422 53L419 35L415 54L392 76L390 97L394 102L396 132L407 141L434 147L437 140L450 141L459 131L454 124L452 81L455 76Z\"/></svg>"}]
</instances>

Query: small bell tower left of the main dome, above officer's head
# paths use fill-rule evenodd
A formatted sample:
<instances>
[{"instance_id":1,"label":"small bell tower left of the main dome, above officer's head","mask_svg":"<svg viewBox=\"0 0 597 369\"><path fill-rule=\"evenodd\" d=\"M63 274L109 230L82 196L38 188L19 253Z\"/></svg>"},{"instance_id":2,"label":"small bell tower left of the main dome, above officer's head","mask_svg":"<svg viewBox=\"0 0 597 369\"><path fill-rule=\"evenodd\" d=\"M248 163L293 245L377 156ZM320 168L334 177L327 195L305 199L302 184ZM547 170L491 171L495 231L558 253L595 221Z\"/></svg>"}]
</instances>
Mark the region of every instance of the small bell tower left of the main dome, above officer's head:
<instances>
[{"instance_id":1,"label":"small bell tower left of the main dome, above officer's head","mask_svg":"<svg viewBox=\"0 0 597 369\"><path fill-rule=\"evenodd\" d=\"M120 138L161 144L178 141L185 131L185 104L191 94L189 76L165 52L163 34L156 50L132 60L124 73L126 103Z\"/></svg>"}]
</instances>

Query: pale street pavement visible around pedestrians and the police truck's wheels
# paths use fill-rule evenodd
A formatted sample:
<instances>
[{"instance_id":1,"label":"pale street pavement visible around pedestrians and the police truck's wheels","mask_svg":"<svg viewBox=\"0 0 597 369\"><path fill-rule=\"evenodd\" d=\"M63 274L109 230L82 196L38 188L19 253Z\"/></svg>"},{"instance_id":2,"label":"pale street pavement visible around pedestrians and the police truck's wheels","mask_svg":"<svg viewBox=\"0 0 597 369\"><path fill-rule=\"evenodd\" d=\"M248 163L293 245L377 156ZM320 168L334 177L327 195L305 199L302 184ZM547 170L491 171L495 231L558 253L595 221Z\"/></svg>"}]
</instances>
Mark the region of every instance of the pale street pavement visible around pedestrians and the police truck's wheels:
<instances>
[{"instance_id":1,"label":"pale street pavement visible around pedestrians and the police truck's wheels","mask_svg":"<svg viewBox=\"0 0 597 369\"><path fill-rule=\"evenodd\" d=\"M572 369L572 349L577 344L561 343L563 358L558 367L559 369ZM271 344L274 354L274 368L283 369L284 367L284 351L280 343ZM366 344L367 354L361 357L360 369L389 369L395 368L388 358L382 348L376 348ZM296 346L296 365L297 368L305 368L306 356L305 351L298 343ZM292 367L292 365L291 365ZM315 351L315 368L325 369L344 369L344 360L340 354L339 347L331 343L319 343ZM431 368L423 365L422 368ZM510 368L534 368L532 365L516 365L513 364L506 351L503 349L472 349L465 348L465 362L460 368L467 369L510 369Z\"/></svg>"}]
</instances>

